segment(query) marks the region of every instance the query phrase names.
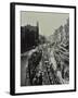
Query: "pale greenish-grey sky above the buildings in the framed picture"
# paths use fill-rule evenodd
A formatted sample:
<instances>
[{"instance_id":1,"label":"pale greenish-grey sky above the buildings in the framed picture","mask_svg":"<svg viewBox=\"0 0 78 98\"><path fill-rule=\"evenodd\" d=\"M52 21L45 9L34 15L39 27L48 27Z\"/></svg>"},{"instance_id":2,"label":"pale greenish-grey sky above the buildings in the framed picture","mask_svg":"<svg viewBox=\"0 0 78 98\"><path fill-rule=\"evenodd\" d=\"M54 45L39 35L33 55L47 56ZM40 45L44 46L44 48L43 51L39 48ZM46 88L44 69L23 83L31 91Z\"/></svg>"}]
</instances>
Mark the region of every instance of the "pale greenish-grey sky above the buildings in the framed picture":
<instances>
[{"instance_id":1,"label":"pale greenish-grey sky above the buildings in the framed picture","mask_svg":"<svg viewBox=\"0 0 78 98\"><path fill-rule=\"evenodd\" d=\"M68 13L54 13L54 12L21 12L21 26L27 24L37 25L39 23L39 34L50 36L56 28L66 23L69 17Z\"/></svg>"}]
</instances>

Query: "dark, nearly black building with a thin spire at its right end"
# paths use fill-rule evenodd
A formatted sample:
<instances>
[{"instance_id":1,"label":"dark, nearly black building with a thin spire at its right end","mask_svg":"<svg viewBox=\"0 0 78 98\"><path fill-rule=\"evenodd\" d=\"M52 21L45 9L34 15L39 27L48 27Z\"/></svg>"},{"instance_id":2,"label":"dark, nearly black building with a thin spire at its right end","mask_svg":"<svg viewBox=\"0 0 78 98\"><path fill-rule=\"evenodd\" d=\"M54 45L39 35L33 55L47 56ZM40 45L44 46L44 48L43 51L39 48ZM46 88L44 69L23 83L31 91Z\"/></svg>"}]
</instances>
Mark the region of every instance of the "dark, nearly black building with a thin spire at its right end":
<instances>
[{"instance_id":1,"label":"dark, nearly black building with a thin spire at its right end","mask_svg":"<svg viewBox=\"0 0 78 98\"><path fill-rule=\"evenodd\" d=\"M37 26L21 26L21 52L25 52L37 46L39 41L39 24Z\"/></svg>"}]
</instances>

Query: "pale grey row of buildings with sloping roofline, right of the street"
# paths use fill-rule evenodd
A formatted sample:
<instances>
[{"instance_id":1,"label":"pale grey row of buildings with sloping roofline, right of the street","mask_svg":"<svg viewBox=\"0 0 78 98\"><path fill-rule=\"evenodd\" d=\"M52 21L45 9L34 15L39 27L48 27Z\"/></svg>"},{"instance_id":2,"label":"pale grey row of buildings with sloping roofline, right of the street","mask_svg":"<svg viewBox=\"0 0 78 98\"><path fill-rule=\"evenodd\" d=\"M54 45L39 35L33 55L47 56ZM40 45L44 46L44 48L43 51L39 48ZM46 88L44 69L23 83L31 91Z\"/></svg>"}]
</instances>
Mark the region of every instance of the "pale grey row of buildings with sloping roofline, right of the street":
<instances>
[{"instance_id":1,"label":"pale grey row of buildings with sloping roofline, right of the street","mask_svg":"<svg viewBox=\"0 0 78 98\"><path fill-rule=\"evenodd\" d=\"M51 38L55 44L67 44L69 41L69 19L66 21L66 24L64 26L61 25L57 29L55 29Z\"/></svg>"}]
</instances>

